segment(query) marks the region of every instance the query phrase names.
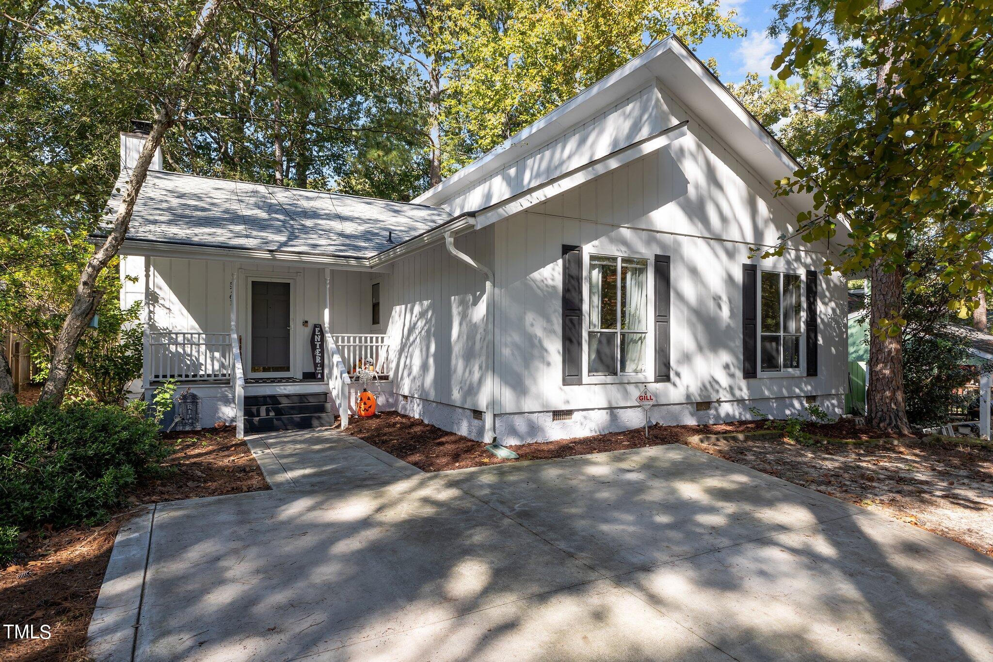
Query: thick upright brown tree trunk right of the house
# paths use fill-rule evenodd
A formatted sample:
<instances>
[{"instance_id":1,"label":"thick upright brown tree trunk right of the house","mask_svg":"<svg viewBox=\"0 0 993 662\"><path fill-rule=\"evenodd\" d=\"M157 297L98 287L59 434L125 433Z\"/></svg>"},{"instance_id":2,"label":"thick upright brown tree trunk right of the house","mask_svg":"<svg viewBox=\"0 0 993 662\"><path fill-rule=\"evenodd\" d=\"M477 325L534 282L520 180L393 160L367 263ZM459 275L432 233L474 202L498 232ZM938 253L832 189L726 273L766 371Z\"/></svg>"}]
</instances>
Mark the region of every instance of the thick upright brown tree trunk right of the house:
<instances>
[{"instance_id":1,"label":"thick upright brown tree trunk right of the house","mask_svg":"<svg viewBox=\"0 0 993 662\"><path fill-rule=\"evenodd\" d=\"M902 333L880 338L876 330L884 318L900 316L904 305L904 276L884 273L877 260L872 267L869 295L869 389L867 423L877 430L911 436L904 399L904 342Z\"/></svg>"}]
</instances>

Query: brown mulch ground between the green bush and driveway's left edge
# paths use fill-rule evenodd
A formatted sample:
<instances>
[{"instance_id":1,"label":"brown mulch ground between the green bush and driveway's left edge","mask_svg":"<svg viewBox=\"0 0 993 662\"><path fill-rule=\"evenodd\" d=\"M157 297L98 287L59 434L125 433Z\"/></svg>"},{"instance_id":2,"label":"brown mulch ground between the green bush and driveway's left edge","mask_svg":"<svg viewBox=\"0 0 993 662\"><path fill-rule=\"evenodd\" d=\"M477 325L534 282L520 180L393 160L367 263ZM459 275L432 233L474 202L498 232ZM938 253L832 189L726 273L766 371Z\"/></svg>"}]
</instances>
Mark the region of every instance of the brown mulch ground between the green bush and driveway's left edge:
<instances>
[{"instance_id":1,"label":"brown mulch ground between the green bush and driveway's left edge","mask_svg":"<svg viewBox=\"0 0 993 662\"><path fill-rule=\"evenodd\" d=\"M0 635L0 660L83 660L86 628L96 603L114 537L141 504L268 489L262 471L234 428L171 433L176 453L172 471L146 480L127 495L127 506L96 527L72 527L32 534L15 565L0 571L0 614L4 623L51 626L52 638L8 640Z\"/></svg>"}]
</instances>

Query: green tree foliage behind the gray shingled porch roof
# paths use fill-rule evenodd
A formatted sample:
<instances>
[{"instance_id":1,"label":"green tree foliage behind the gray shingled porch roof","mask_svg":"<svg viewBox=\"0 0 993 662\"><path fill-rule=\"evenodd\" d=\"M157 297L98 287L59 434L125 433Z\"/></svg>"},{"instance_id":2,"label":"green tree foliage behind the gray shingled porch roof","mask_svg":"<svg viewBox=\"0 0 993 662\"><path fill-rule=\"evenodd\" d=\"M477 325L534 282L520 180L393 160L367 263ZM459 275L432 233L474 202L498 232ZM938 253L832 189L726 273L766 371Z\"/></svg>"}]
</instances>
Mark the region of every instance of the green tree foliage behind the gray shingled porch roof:
<instances>
[{"instance_id":1,"label":"green tree foliage behind the gray shingled porch roof","mask_svg":"<svg viewBox=\"0 0 993 662\"><path fill-rule=\"evenodd\" d=\"M370 3L251 0L209 41L171 170L409 199L424 188L423 103Z\"/></svg>"}]
</instances>

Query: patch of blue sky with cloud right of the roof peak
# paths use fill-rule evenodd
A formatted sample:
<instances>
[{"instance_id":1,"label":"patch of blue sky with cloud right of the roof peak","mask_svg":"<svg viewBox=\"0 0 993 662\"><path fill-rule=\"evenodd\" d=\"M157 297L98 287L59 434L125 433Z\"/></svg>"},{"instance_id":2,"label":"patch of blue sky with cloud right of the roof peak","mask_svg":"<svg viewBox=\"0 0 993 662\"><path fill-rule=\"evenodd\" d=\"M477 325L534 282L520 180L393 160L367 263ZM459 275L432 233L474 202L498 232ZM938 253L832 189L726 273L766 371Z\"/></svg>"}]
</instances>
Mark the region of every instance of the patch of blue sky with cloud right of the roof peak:
<instances>
[{"instance_id":1,"label":"patch of blue sky with cloud right of the roof peak","mask_svg":"<svg viewBox=\"0 0 993 662\"><path fill-rule=\"evenodd\" d=\"M749 71L758 71L765 79L773 72L773 58L780 53L780 44L766 36L773 20L772 2L721 0L721 6L738 10L735 20L748 30L748 35L737 39L708 39L697 47L697 55L701 60L717 60L723 82L741 82Z\"/></svg>"}]
</instances>

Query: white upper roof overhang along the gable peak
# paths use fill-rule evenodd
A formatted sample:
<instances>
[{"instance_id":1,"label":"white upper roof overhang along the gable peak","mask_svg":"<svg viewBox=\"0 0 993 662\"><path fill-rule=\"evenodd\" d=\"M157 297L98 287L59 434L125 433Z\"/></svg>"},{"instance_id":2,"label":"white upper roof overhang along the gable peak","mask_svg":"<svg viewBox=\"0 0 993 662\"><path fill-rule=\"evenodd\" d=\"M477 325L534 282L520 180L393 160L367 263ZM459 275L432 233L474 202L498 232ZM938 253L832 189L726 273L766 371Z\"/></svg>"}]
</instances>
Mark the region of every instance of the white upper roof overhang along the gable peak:
<instances>
[{"instance_id":1,"label":"white upper roof overhang along the gable peak","mask_svg":"<svg viewBox=\"0 0 993 662\"><path fill-rule=\"evenodd\" d=\"M770 187L792 174L798 162L779 140L721 83L677 37L670 36L585 88L555 110L503 141L496 148L424 192L413 201L443 206L461 192L487 186L486 179L535 152L570 127L582 123L655 80L670 90L708 130L730 147ZM550 177L560 173L551 172ZM797 211L810 208L811 194L793 194L783 203Z\"/></svg>"}]
</instances>

